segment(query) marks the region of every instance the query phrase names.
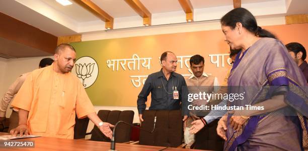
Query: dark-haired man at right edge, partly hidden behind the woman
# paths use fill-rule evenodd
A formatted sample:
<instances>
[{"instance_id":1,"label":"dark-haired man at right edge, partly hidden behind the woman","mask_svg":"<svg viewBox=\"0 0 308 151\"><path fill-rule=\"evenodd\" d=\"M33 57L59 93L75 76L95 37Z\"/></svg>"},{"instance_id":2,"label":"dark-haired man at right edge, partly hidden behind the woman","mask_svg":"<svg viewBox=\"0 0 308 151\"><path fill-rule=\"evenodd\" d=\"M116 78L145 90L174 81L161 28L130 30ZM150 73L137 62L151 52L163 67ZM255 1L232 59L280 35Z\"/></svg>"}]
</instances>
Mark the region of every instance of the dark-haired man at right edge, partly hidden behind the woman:
<instances>
[{"instance_id":1,"label":"dark-haired man at right edge, partly hidden behind the woman","mask_svg":"<svg viewBox=\"0 0 308 151\"><path fill-rule=\"evenodd\" d=\"M306 50L299 43L288 43L285 45L287 50L289 51L291 57L298 65L302 73L304 74L307 82L308 82L308 64L305 61L306 59Z\"/></svg>"}]
</instances>

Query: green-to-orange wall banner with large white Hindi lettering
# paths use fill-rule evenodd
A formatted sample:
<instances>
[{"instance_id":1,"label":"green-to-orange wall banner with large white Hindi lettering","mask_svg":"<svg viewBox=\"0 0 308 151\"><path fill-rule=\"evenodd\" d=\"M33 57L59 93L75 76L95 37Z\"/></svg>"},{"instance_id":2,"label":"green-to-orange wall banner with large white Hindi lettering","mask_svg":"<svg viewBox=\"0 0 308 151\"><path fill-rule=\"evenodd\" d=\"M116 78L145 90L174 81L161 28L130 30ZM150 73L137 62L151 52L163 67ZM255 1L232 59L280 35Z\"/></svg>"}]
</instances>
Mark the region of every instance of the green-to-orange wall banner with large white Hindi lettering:
<instances>
[{"instance_id":1,"label":"green-to-orange wall banner with large white Hindi lettering","mask_svg":"<svg viewBox=\"0 0 308 151\"><path fill-rule=\"evenodd\" d=\"M284 44L299 42L308 47L305 38L308 24L262 28L274 33ZM78 57L90 56L98 63L98 78L86 89L97 106L136 106L144 79L161 69L159 57L165 51L178 56L176 72L184 76L190 74L189 57L195 54L205 58L204 71L218 77L220 83L231 67L228 64L229 47L221 30L95 40L72 45Z\"/></svg>"}]
</instances>

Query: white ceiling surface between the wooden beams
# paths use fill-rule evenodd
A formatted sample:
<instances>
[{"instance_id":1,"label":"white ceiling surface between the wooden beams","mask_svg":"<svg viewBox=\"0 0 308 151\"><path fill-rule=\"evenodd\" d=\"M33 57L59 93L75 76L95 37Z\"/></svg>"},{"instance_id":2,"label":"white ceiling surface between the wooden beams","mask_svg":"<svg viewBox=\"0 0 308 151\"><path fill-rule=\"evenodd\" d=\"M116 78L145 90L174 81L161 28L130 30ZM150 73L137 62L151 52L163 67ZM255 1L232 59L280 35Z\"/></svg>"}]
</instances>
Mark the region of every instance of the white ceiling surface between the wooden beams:
<instances>
[{"instance_id":1,"label":"white ceiling surface between the wooden beams","mask_svg":"<svg viewBox=\"0 0 308 151\"><path fill-rule=\"evenodd\" d=\"M105 23L73 0L61 6L55 0L3 0L0 12L55 36L101 32ZM194 21L219 20L233 9L233 0L190 0ZM124 0L92 0L114 18L114 29L142 27L142 18ZM152 14L152 25L185 23L178 0L140 0ZM242 0L256 17L308 14L307 0Z\"/></svg>"}]
</instances>

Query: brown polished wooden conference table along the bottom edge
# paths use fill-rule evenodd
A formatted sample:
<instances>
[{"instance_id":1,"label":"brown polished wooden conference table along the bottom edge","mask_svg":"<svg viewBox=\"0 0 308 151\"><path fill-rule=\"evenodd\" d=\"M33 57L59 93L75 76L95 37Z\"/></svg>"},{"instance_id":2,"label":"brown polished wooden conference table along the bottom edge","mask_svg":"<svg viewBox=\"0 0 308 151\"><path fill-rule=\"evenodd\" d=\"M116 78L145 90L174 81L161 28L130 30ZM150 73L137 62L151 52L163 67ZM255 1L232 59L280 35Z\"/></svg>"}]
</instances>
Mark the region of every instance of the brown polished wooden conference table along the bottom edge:
<instances>
[{"instance_id":1,"label":"brown polished wooden conference table along the bottom edge","mask_svg":"<svg viewBox=\"0 0 308 151\"><path fill-rule=\"evenodd\" d=\"M8 135L8 133L0 132L0 135ZM9 147L0 147L0 150L109 150L110 142L103 141L92 141L84 139L65 139L65 138L54 138L54 137L33 137L33 138L21 138L13 139L14 141L34 141L34 147L23 147L23 148L9 148ZM4 143L6 140L0 140L1 143ZM139 144L124 144L116 143L116 150L168 150L168 151L188 151L188 150L197 150L197 149L185 149L185 148L173 148L173 147L164 147L164 146L148 146L148 145L139 145Z\"/></svg>"}]
</instances>

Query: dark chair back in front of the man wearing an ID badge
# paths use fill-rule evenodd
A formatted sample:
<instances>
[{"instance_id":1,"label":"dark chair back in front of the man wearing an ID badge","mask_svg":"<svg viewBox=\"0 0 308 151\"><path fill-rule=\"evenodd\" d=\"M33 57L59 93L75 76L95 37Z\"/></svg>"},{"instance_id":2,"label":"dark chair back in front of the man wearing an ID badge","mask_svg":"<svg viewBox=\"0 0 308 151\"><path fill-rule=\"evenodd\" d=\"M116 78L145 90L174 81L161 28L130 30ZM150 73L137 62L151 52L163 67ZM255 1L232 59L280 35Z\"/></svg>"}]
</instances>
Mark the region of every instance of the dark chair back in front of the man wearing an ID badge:
<instances>
[{"instance_id":1,"label":"dark chair back in front of the man wearing an ID badge","mask_svg":"<svg viewBox=\"0 0 308 151\"><path fill-rule=\"evenodd\" d=\"M144 110L141 128L151 131L156 118L153 133L140 130L139 144L177 147L182 144L183 121L181 110Z\"/></svg>"}]
</instances>

